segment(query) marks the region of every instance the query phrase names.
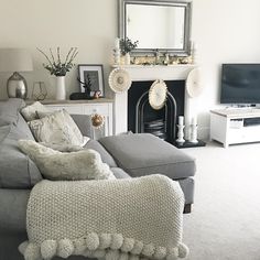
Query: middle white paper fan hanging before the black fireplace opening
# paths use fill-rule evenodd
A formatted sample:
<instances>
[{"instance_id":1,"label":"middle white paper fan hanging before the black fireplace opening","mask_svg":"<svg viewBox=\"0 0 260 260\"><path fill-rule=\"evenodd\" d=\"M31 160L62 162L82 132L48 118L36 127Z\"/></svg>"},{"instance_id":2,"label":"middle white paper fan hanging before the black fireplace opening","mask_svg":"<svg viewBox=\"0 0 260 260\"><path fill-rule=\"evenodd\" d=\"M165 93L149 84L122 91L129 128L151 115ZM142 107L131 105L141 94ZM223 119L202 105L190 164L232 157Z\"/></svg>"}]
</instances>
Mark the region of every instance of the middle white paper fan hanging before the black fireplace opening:
<instances>
[{"instance_id":1,"label":"middle white paper fan hanging before the black fireplace opening","mask_svg":"<svg viewBox=\"0 0 260 260\"><path fill-rule=\"evenodd\" d=\"M158 79L155 80L149 90L149 104L153 109L161 109L164 107L167 97L166 84Z\"/></svg>"}]
</instances>

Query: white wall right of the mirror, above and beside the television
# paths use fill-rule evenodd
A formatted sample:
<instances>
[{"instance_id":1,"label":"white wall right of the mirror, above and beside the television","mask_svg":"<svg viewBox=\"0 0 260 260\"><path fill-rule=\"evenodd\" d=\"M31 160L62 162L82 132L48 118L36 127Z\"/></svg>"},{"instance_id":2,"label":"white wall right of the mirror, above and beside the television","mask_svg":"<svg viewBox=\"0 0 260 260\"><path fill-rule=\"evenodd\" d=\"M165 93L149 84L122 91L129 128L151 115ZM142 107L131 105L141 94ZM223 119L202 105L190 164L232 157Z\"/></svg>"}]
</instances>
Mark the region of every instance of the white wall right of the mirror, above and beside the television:
<instances>
[{"instance_id":1,"label":"white wall right of the mirror, above and beside the television","mask_svg":"<svg viewBox=\"0 0 260 260\"><path fill-rule=\"evenodd\" d=\"M220 64L260 63L259 0L194 0L193 40L205 91L195 100L201 136L208 133L209 110L219 104Z\"/></svg>"}]
</instances>

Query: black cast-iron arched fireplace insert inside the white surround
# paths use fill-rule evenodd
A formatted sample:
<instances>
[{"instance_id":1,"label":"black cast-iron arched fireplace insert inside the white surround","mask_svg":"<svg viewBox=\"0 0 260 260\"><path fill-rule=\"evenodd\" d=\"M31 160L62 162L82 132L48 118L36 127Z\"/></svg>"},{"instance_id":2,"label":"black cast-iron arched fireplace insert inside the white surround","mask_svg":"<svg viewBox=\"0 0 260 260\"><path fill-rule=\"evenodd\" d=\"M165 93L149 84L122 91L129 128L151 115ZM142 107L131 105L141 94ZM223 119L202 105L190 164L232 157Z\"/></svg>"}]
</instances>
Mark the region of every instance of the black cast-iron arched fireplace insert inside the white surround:
<instances>
[{"instance_id":1,"label":"black cast-iron arched fireplace insert inside the white surround","mask_svg":"<svg viewBox=\"0 0 260 260\"><path fill-rule=\"evenodd\" d=\"M149 132L170 143L176 139L176 119L184 115L185 80L166 80L165 106L153 109L149 104L149 89L153 82L133 82L128 91L128 130Z\"/></svg>"}]
</instances>

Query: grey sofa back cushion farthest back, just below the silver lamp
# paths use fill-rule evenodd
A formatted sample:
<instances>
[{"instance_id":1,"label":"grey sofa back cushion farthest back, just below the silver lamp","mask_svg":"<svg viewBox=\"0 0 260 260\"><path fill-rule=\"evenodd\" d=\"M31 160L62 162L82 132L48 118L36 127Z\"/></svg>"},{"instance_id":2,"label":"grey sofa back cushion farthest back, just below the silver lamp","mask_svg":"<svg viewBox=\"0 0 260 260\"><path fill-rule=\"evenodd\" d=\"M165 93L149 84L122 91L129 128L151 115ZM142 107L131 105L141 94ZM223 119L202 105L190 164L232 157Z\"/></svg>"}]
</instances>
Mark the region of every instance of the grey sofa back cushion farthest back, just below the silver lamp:
<instances>
[{"instance_id":1,"label":"grey sofa back cushion farthest back, just below the silver lamp","mask_svg":"<svg viewBox=\"0 0 260 260\"><path fill-rule=\"evenodd\" d=\"M17 124L19 111L25 106L25 102L19 98L10 98L7 101L0 101L0 127L10 123Z\"/></svg>"}]
</instances>

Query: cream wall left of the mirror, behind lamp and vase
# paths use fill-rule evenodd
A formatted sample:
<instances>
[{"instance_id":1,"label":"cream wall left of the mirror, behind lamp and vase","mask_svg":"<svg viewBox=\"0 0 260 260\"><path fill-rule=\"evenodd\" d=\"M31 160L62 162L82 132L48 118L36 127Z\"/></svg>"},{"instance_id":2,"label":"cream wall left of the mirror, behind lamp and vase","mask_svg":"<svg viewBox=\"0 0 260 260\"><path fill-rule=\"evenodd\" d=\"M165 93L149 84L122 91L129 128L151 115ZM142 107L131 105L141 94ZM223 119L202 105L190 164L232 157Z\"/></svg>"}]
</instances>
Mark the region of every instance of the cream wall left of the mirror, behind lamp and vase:
<instances>
[{"instance_id":1,"label":"cream wall left of the mirror, behind lamp and vase","mask_svg":"<svg viewBox=\"0 0 260 260\"><path fill-rule=\"evenodd\" d=\"M30 90L33 82L44 80L50 98L55 91L36 47L47 51L61 46L65 53L77 46L76 63L104 64L107 78L117 35L116 0L0 0L0 47L26 47L33 54L34 72L23 74ZM7 97L9 76L0 74L0 98ZM74 68L66 78L67 95L79 90L76 76Z\"/></svg>"}]
</instances>

